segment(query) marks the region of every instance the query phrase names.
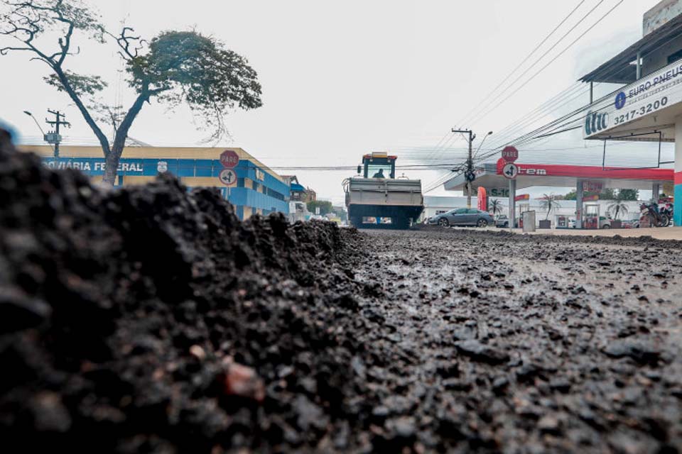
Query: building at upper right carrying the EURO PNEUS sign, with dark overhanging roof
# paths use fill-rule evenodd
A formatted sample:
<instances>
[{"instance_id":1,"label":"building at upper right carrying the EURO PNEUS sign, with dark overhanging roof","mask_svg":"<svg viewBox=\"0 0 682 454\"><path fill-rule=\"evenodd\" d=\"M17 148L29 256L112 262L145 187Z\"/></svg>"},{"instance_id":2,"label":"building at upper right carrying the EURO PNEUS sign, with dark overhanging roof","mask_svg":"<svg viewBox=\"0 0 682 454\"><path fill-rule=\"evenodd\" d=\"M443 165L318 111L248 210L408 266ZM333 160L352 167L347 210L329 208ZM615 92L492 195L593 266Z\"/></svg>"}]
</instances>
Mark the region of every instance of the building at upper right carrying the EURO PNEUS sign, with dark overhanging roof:
<instances>
[{"instance_id":1,"label":"building at upper right carrying the EURO PNEUS sign, with dark overhanging roof","mask_svg":"<svg viewBox=\"0 0 682 454\"><path fill-rule=\"evenodd\" d=\"M580 78L590 87L595 82L624 84L602 99L590 99L583 136L674 142L674 196L682 199L682 1L663 0L646 11L642 35ZM681 225L682 203L674 210L675 224Z\"/></svg>"}]
</instances>

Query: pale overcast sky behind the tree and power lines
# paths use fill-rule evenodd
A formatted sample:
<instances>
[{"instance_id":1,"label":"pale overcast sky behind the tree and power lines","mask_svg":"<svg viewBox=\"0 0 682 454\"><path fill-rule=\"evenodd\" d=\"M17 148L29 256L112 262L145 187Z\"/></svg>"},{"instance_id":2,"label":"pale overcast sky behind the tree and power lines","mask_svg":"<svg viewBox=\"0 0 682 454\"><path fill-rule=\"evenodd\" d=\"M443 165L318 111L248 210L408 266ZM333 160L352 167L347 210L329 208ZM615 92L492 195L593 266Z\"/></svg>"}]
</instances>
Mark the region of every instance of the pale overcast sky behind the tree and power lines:
<instances>
[{"instance_id":1,"label":"pale overcast sky behind the tree and power lines","mask_svg":"<svg viewBox=\"0 0 682 454\"><path fill-rule=\"evenodd\" d=\"M529 70L523 84L546 62L604 16L619 0L604 0L583 23ZM585 0L571 18L521 67L536 61L600 0ZM220 38L228 48L247 57L263 85L264 106L227 115L232 137L220 145L239 146L271 167L357 165L363 153L387 150L399 163L460 162L465 141L443 136L453 126L471 127L482 138L504 127L552 96L570 87L642 37L642 14L658 0L625 0L595 28L565 51L514 96L492 96L499 104L476 121L458 123L481 104L485 96L548 35L579 0L90 0L107 28L121 21L151 38L164 30L195 28ZM70 69L99 74L110 87L102 99L109 104L131 102L121 64L112 43L97 45L80 37L80 55L70 57ZM1 42L0 42L1 43ZM43 118L46 109L67 113L73 128L70 143L94 144L93 135L70 100L42 77L48 74L27 54L0 57L3 99L0 118L21 132L26 142L39 136L23 110ZM516 79L516 75L509 82ZM597 87L609 92L615 87ZM513 92L510 89L509 92ZM546 118L546 123L585 104L588 96ZM475 119L475 118L474 118ZM529 125L529 128L532 125ZM519 131L519 135L523 131ZM130 135L151 145L193 145L205 133L197 131L184 109L169 112L164 106L146 106ZM497 145L493 134L488 145ZM498 141L499 141L498 140ZM476 144L478 145L478 143ZM588 147L580 150L580 147ZM570 148L570 150L557 150ZM575 150L578 148L578 150ZM540 151L532 151L532 149ZM577 135L565 135L521 148L519 162L601 162L601 149ZM664 153L671 154L666 146ZM626 157L640 165L655 163L649 148L624 145L610 150L612 165ZM423 185L443 171L408 170ZM323 198L342 200L341 182L352 172L281 170ZM542 189L539 189L542 190ZM561 192L561 191L557 191ZM442 189L428 195L453 195Z\"/></svg>"}]
</instances>

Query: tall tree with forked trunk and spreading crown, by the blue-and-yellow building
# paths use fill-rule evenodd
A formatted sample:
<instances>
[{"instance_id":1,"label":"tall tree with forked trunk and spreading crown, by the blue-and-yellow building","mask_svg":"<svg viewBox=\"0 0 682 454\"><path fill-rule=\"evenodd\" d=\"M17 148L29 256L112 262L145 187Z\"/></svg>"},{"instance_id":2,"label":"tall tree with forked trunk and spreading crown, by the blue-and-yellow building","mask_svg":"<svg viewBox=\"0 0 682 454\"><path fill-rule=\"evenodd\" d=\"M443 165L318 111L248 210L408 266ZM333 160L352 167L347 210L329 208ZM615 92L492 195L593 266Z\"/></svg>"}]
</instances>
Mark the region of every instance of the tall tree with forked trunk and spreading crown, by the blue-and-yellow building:
<instances>
[{"instance_id":1,"label":"tall tree with forked trunk and spreading crown, by the blue-and-yellow building","mask_svg":"<svg viewBox=\"0 0 682 454\"><path fill-rule=\"evenodd\" d=\"M44 62L52 74L45 82L65 92L82 114L102 146L106 161L104 181L113 184L128 131L146 103L156 99L168 106L187 104L218 140L227 131L223 121L229 109L256 109L262 105L261 85L256 72L244 57L227 50L220 41L196 31L165 31L151 41L134 35L130 27L120 33L107 31L99 16L80 0L2 0L0 37L21 44L0 48L0 55L27 51L31 60ZM58 48L40 38L50 31L61 35ZM124 114L102 107L97 94L107 87L98 75L77 74L65 67L67 57L77 55L76 38L91 38L99 43L113 40L126 64L128 84L136 99ZM114 126L109 143L99 123L102 114Z\"/></svg>"}]
</instances>

